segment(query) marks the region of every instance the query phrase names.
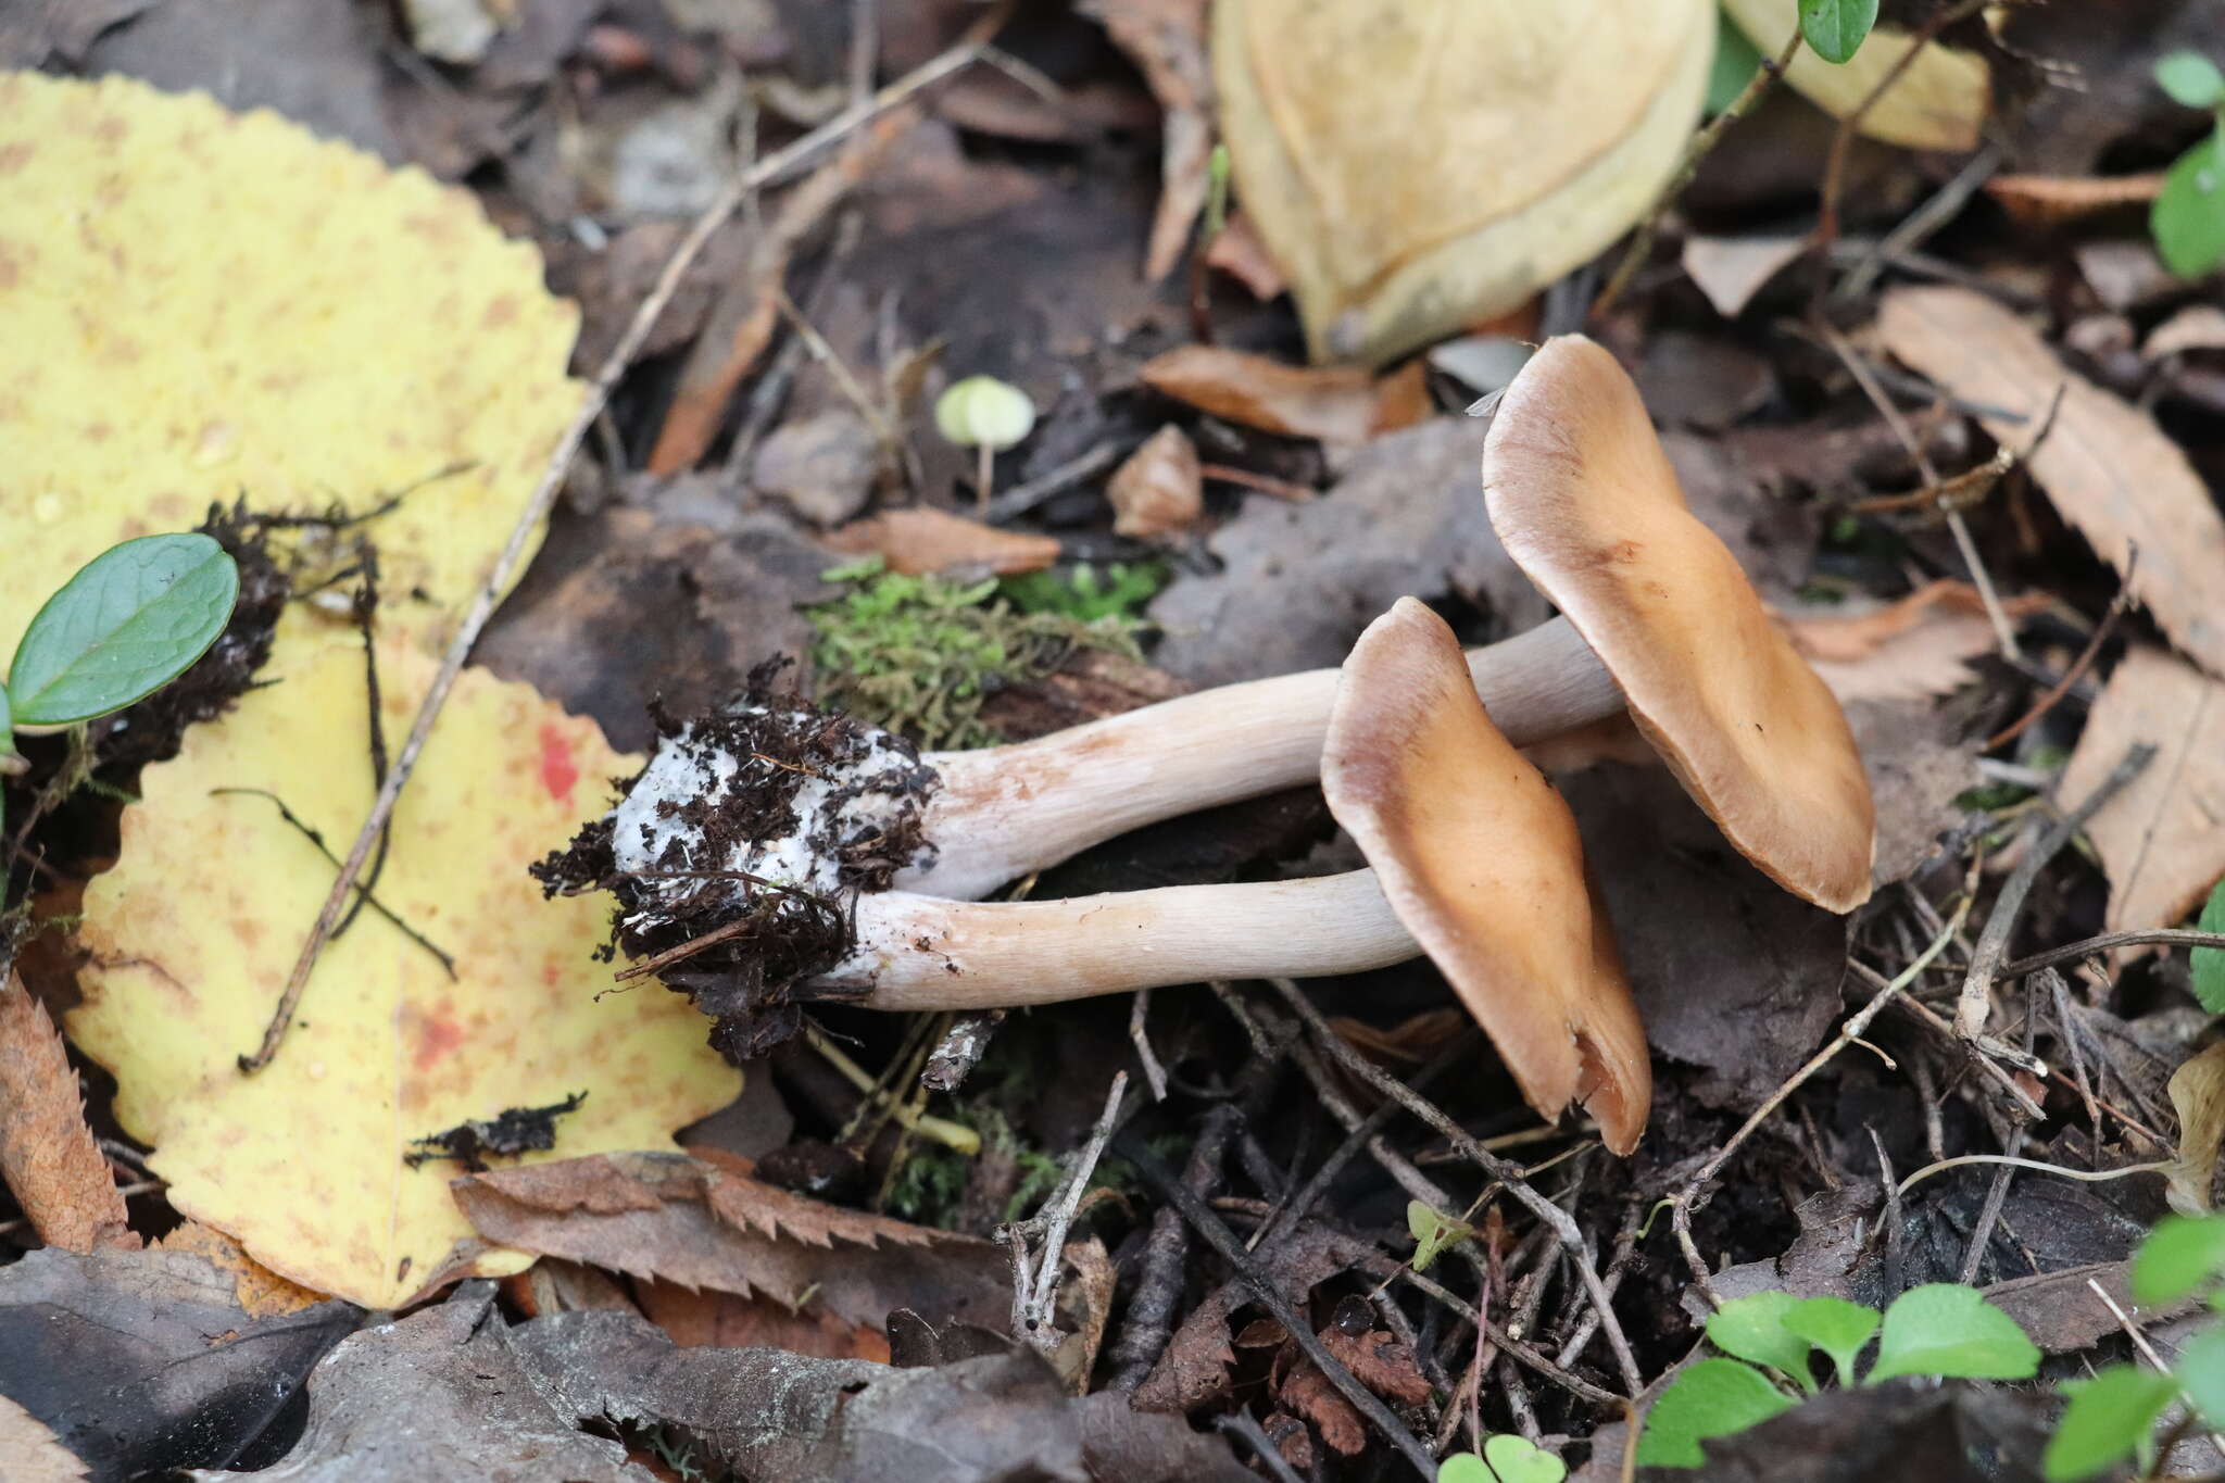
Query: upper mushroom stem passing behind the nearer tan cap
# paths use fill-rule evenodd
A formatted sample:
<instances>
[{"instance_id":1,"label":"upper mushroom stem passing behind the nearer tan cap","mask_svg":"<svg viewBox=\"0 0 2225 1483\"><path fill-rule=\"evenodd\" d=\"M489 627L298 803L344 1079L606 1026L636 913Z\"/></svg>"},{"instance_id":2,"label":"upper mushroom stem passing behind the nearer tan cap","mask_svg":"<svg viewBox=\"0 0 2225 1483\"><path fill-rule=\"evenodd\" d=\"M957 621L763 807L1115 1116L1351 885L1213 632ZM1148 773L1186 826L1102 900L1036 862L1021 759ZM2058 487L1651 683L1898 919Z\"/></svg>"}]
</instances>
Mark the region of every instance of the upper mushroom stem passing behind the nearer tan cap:
<instances>
[{"instance_id":1,"label":"upper mushroom stem passing behind the nearer tan cap","mask_svg":"<svg viewBox=\"0 0 2225 1483\"><path fill-rule=\"evenodd\" d=\"M1566 618L1471 649L1468 674L1517 747L1622 711L1613 676ZM1204 689L1030 743L932 752L923 760L943 780L926 812L934 856L901 872L897 887L983 896L1128 829L1311 783L1335 698L1337 671L1308 669Z\"/></svg>"}]
</instances>

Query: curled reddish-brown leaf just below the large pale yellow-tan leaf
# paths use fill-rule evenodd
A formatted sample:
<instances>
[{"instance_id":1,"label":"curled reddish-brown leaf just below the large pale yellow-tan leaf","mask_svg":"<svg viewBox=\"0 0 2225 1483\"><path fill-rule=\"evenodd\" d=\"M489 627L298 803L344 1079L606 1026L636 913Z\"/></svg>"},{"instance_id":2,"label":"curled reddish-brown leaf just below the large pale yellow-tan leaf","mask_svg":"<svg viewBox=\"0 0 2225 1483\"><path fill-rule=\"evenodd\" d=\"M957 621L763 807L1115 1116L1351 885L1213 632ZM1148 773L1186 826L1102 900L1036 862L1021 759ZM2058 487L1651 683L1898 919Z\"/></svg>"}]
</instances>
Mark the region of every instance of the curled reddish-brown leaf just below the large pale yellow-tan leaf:
<instances>
[{"instance_id":1,"label":"curled reddish-brown leaf just below the large pale yellow-tan leaf","mask_svg":"<svg viewBox=\"0 0 2225 1483\"><path fill-rule=\"evenodd\" d=\"M1366 442L1428 416L1420 362L1377 380L1355 369L1308 369L1266 356L1184 345L1137 371L1144 385L1217 418L1288 438Z\"/></svg>"}]
</instances>

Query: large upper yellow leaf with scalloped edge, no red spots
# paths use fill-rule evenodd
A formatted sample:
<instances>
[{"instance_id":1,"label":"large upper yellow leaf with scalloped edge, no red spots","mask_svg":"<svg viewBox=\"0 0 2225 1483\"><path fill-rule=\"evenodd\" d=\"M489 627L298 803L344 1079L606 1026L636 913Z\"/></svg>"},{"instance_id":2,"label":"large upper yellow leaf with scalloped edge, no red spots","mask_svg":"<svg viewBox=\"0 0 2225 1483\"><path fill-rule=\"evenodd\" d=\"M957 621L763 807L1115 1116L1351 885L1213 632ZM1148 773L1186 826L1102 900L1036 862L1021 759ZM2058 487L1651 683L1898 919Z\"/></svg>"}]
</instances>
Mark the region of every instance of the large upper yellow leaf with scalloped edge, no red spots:
<instances>
[{"instance_id":1,"label":"large upper yellow leaf with scalloped edge, no red spots","mask_svg":"<svg viewBox=\"0 0 2225 1483\"><path fill-rule=\"evenodd\" d=\"M469 465L365 527L438 643L578 407L578 311L472 196L113 76L0 73L0 658L116 540Z\"/></svg>"}]
</instances>

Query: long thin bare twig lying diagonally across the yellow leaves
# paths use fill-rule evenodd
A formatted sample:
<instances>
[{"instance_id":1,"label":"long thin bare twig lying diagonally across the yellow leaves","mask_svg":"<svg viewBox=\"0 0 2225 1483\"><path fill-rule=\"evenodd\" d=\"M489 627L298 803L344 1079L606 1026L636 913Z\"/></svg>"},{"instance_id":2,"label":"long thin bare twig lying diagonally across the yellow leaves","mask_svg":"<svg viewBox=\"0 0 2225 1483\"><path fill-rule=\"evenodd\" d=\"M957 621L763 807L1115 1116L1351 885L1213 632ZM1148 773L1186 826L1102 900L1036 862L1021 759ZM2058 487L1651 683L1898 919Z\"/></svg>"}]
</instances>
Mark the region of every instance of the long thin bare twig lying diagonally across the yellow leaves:
<instances>
[{"instance_id":1,"label":"long thin bare twig lying diagonally across the yellow leaves","mask_svg":"<svg viewBox=\"0 0 2225 1483\"><path fill-rule=\"evenodd\" d=\"M990 22L1001 22L1003 11L995 11ZM979 27L977 27L979 29ZM712 233L725 225L741 202L754 191L772 185L788 176L821 149L834 145L852 129L870 122L879 113L901 104L912 93L941 82L943 78L970 67L986 44L986 36L970 36L950 51L943 51L932 62L906 73L897 82L890 82L879 93L868 98L859 107L843 109L830 118L819 129L812 129L803 138L794 140L785 149L779 149L750 169L734 176L734 180L719 191L719 198L696 218L688 236L681 238L679 247L672 249L672 258L665 262L665 271L659 273L656 287L634 311L634 320L619 336L619 345L612 347L603 367L594 374L587 385L587 396L581 398L578 411L572 414L572 422L565 427L563 436L556 438L556 449L550 454L547 465L541 471L541 482L534 485L532 496L525 500L525 509L518 511L518 522L510 531L510 540L503 543L501 556L494 558L494 567L487 571L487 580L481 583L478 594L472 598L472 607L465 611L463 623L456 627L456 638L449 643L447 654L441 658L441 671L434 676L432 687L425 691L425 700L418 705L416 720L409 727L409 738L403 743L400 754L394 758L394 769L387 774L385 785L378 789L378 798L372 800L372 812L363 820L363 829L356 834L354 847L347 852L347 860L340 863L340 874L332 883L332 894L325 898L323 909L316 914L316 923L309 927L309 938L300 947L300 958L294 963L294 972L287 978L285 994L278 998L278 1009L271 1014L269 1027L263 1032L263 1043L251 1056L240 1056L240 1072L251 1074L269 1065L271 1056L278 1054L280 1041L285 1041L287 1027L294 1023L294 1009L300 1007L303 989L309 987L309 972L316 967L318 954L325 952L325 940L332 936L334 923L340 920L340 912L347 909L349 892L356 885L356 876L363 872L372 847L378 843L380 832L387 820L394 818L394 805L400 800L403 787L409 783L409 774L416 769L418 754L425 749L425 740L432 736L432 725L441 716L441 707L447 705L447 691L454 689L456 676L463 674L463 663L472 654L472 645L478 643L481 629L487 627L487 618L494 616L496 596L507 587L512 574L525 558L525 547L541 522L547 520L550 509L556 505L556 496L563 491L565 474L572 467L572 458L578 454L581 440L594 425L594 418L610 402L612 389L616 389L619 378L632 365L634 354L641 349L643 340L650 336L650 327L663 307L672 302L672 296L681 287L681 278L688 267L710 242Z\"/></svg>"}]
</instances>

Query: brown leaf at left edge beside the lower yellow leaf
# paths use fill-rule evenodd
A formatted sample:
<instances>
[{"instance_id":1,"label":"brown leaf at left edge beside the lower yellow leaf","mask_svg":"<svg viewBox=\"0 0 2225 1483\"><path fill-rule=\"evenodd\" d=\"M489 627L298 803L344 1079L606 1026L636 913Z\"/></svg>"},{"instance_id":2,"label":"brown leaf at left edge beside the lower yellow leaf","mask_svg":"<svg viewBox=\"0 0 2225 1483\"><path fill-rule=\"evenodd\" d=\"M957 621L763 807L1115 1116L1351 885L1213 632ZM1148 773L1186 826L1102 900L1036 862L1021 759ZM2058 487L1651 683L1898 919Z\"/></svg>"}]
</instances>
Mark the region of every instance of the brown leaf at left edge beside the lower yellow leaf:
<instances>
[{"instance_id":1,"label":"brown leaf at left edge beside the lower yellow leaf","mask_svg":"<svg viewBox=\"0 0 2225 1483\"><path fill-rule=\"evenodd\" d=\"M85 1092L62 1036L13 972L0 981L0 1178L47 1245L91 1252L140 1243L85 1125Z\"/></svg>"}]
</instances>

